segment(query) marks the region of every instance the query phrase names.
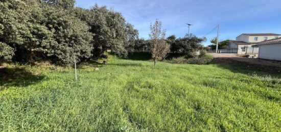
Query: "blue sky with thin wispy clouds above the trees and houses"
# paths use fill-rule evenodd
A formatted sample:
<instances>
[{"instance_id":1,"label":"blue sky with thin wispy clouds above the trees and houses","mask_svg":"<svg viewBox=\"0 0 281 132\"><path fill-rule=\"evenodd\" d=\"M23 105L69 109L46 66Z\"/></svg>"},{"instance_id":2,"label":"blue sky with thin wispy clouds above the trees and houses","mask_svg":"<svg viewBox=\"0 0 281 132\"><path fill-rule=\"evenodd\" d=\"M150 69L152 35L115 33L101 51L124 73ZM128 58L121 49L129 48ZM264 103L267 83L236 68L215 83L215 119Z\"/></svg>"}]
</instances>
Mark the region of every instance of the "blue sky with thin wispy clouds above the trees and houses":
<instances>
[{"instance_id":1,"label":"blue sky with thin wispy clouds above the trees and houses","mask_svg":"<svg viewBox=\"0 0 281 132\"><path fill-rule=\"evenodd\" d=\"M242 33L281 34L280 0L76 0L76 6L90 8L113 7L148 38L150 23L162 21L167 36L183 37L188 33L185 23L191 23L191 33L203 37L220 24L220 40L235 39ZM216 31L207 35L205 45L216 37Z\"/></svg>"}]
</instances>

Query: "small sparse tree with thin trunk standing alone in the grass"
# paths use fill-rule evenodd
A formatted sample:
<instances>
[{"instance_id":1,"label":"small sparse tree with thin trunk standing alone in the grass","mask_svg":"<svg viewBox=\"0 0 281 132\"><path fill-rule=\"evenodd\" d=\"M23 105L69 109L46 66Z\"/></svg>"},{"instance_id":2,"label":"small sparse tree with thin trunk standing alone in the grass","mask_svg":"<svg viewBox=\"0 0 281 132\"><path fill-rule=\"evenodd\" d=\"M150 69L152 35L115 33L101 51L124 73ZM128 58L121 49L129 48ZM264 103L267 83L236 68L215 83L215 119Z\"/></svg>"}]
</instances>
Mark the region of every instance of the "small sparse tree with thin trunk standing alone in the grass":
<instances>
[{"instance_id":1,"label":"small sparse tree with thin trunk standing alone in the grass","mask_svg":"<svg viewBox=\"0 0 281 132\"><path fill-rule=\"evenodd\" d=\"M154 66L158 60L164 59L170 51L170 45L165 41L166 30L161 30L162 22L156 19L155 23L150 24L150 53L154 60Z\"/></svg>"}]
</instances>

